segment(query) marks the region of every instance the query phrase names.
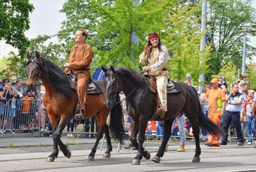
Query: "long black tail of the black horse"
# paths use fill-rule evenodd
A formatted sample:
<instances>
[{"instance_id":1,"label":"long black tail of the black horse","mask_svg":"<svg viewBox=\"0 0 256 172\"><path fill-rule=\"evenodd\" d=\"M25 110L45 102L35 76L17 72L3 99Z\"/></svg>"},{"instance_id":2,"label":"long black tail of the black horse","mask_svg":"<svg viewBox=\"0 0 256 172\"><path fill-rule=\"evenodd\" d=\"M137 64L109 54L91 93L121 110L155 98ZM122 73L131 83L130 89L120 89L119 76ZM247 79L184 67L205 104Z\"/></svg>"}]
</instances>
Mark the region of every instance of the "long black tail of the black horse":
<instances>
[{"instance_id":1,"label":"long black tail of the black horse","mask_svg":"<svg viewBox=\"0 0 256 172\"><path fill-rule=\"evenodd\" d=\"M193 87L193 90L196 92L196 96L197 96L197 91L196 89ZM197 96L198 99L198 96ZM198 125L199 127L204 130L207 131L209 134L220 134L221 133L221 127L219 127L218 125L216 125L214 122L212 122L205 114L204 111L202 109L202 106L200 104L200 101L198 99Z\"/></svg>"}]
</instances>

